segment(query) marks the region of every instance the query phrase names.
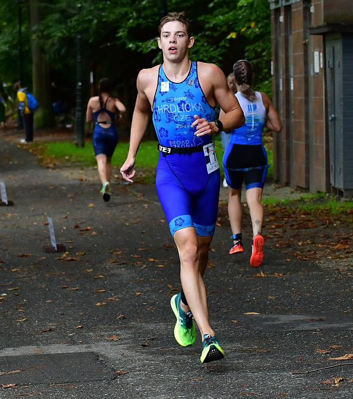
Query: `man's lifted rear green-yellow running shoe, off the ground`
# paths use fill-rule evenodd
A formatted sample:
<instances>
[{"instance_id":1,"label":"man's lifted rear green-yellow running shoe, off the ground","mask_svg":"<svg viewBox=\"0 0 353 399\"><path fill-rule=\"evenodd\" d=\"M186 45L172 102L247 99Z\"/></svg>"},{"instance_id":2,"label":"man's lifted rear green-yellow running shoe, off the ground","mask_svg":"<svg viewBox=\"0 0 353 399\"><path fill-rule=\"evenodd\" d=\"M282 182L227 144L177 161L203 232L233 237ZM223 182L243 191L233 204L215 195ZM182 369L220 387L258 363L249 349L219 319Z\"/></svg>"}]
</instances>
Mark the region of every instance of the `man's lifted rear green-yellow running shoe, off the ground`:
<instances>
[{"instance_id":1,"label":"man's lifted rear green-yellow running shoe, off the ground","mask_svg":"<svg viewBox=\"0 0 353 399\"><path fill-rule=\"evenodd\" d=\"M195 323L191 312L185 313L180 306L180 292L171 299L171 307L176 315L176 325L174 327L174 336L176 342L181 346L193 345L196 341Z\"/></svg>"}]
</instances>

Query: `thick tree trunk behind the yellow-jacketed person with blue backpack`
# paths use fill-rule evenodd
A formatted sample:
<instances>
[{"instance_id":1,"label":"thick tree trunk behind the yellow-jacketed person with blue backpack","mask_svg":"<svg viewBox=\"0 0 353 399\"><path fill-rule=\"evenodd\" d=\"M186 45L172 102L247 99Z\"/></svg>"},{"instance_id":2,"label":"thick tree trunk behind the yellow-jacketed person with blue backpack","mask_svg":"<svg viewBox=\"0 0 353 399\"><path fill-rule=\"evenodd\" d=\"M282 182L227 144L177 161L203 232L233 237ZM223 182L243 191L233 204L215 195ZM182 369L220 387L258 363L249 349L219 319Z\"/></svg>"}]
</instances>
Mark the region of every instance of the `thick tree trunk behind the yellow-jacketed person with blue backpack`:
<instances>
[{"instance_id":1,"label":"thick tree trunk behind the yellow-jacketed person with blue backpack","mask_svg":"<svg viewBox=\"0 0 353 399\"><path fill-rule=\"evenodd\" d=\"M31 30L41 20L38 0L29 0ZM55 124L51 104L49 64L43 57L33 32L31 33L32 46L32 84L39 107L34 113L34 124L37 129L53 127Z\"/></svg>"}]
</instances>

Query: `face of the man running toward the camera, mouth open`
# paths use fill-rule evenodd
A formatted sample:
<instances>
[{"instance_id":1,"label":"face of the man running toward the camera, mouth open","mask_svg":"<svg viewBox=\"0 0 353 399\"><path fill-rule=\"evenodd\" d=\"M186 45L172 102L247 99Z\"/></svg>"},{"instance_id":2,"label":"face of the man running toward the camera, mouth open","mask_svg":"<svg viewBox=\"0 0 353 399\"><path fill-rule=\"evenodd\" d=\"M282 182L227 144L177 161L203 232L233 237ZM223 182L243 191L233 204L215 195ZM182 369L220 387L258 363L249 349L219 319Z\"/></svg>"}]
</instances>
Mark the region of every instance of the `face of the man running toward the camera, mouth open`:
<instances>
[{"instance_id":1,"label":"face of the man running toward the camera, mouth open","mask_svg":"<svg viewBox=\"0 0 353 399\"><path fill-rule=\"evenodd\" d=\"M193 37L187 37L185 26L178 21L163 25L158 47L163 51L163 57L172 62L180 62L193 45Z\"/></svg>"}]
</instances>

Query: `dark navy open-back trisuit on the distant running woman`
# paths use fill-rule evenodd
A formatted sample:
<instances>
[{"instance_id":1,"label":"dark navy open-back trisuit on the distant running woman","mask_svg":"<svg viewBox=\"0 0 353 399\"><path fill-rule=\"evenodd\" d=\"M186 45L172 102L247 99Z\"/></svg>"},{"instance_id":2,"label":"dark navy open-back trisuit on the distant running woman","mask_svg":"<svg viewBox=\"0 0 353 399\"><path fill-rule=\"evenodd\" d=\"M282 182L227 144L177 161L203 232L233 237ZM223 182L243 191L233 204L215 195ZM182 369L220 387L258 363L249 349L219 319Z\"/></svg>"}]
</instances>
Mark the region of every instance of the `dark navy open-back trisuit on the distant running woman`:
<instances>
[{"instance_id":1,"label":"dark navy open-back trisuit on the distant running woman","mask_svg":"<svg viewBox=\"0 0 353 399\"><path fill-rule=\"evenodd\" d=\"M96 112L93 112L94 130L93 130L93 148L95 155L105 154L108 158L113 156L116 145L118 144L118 132L115 128L115 112L109 111L107 102ZM110 122L99 122L99 115L105 113L109 116ZM107 126L104 128L103 126Z\"/></svg>"}]
</instances>

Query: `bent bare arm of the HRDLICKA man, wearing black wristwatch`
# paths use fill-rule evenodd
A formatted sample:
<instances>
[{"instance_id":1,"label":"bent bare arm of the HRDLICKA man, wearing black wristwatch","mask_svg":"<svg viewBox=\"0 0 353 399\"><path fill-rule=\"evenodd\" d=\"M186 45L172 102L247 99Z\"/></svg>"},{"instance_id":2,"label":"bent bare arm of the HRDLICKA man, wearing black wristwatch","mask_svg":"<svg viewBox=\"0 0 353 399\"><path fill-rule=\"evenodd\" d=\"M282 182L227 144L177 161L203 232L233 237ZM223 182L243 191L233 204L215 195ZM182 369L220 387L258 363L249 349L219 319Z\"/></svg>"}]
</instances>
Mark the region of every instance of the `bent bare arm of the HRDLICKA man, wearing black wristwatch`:
<instances>
[{"instance_id":1,"label":"bent bare arm of the HRDLICKA man, wearing black wristwatch","mask_svg":"<svg viewBox=\"0 0 353 399\"><path fill-rule=\"evenodd\" d=\"M205 75L208 75L208 81L212 83L213 95L215 101L220 105L224 111L220 121L223 124L223 130L229 131L239 128L245 122L243 111L239 105L237 98L230 91L227 79L222 70L214 64L204 64ZM191 126L196 126L196 136L203 136L205 134L219 133L219 129L214 122L207 122L203 119L198 119L195 115L195 122Z\"/></svg>"}]
</instances>

